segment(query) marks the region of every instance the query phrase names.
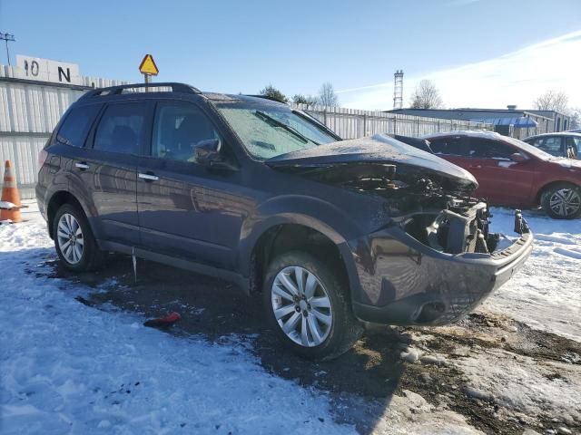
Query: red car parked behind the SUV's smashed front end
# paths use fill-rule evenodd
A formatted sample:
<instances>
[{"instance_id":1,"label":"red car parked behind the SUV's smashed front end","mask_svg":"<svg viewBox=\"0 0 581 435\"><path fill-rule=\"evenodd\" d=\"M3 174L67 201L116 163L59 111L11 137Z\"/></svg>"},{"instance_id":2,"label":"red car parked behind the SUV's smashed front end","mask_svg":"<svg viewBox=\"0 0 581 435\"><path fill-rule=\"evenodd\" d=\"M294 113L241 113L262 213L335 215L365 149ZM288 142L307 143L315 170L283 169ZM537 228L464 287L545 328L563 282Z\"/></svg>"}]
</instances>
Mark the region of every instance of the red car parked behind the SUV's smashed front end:
<instances>
[{"instance_id":1,"label":"red car parked behind the SUV's smashed front end","mask_svg":"<svg viewBox=\"0 0 581 435\"><path fill-rule=\"evenodd\" d=\"M449 131L425 136L439 157L467 169L478 180L476 194L490 204L542 206L547 215L581 215L581 161L558 158L489 131Z\"/></svg>"}]
</instances>

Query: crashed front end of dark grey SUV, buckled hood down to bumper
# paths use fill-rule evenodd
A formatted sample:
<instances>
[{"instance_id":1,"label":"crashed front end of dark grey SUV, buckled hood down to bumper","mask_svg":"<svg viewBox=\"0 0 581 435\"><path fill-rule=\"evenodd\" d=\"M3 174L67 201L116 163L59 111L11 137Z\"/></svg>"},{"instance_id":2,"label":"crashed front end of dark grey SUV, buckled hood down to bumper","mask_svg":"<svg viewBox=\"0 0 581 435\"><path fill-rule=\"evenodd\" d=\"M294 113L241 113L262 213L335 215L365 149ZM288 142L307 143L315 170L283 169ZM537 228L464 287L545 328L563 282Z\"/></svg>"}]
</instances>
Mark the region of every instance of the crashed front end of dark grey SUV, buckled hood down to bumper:
<instances>
[{"instance_id":1,"label":"crashed front end of dark grey SUV, buckled hood down to bumper","mask_svg":"<svg viewBox=\"0 0 581 435\"><path fill-rule=\"evenodd\" d=\"M502 247L478 182L464 169L385 135L281 156L273 168L376 198L389 218L347 240L354 313L381 324L449 324L524 264L533 234L517 210ZM355 276L355 278L354 278Z\"/></svg>"}]
</instances>

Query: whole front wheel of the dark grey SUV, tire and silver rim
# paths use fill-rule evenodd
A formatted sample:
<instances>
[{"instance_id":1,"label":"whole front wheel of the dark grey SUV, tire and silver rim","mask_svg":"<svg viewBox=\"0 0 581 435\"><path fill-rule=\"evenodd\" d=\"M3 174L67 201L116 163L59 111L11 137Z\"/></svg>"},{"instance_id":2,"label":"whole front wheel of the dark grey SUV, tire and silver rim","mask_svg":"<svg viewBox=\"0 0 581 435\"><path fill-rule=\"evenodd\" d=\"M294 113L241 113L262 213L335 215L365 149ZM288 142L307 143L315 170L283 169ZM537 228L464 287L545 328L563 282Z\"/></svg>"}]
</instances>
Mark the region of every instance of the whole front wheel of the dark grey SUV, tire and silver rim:
<instances>
[{"instance_id":1,"label":"whole front wheel of the dark grey SUV, tire and silver rim","mask_svg":"<svg viewBox=\"0 0 581 435\"><path fill-rule=\"evenodd\" d=\"M295 267L302 271L303 292ZM289 286L284 285L285 278L291 281L290 287L298 290L294 297ZM262 304L267 321L281 342L310 360L330 360L347 352L363 333L363 327L351 311L344 281L330 266L308 253L291 251L275 257L264 277ZM282 325L291 324L295 326L285 333Z\"/></svg>"}]
</instances>

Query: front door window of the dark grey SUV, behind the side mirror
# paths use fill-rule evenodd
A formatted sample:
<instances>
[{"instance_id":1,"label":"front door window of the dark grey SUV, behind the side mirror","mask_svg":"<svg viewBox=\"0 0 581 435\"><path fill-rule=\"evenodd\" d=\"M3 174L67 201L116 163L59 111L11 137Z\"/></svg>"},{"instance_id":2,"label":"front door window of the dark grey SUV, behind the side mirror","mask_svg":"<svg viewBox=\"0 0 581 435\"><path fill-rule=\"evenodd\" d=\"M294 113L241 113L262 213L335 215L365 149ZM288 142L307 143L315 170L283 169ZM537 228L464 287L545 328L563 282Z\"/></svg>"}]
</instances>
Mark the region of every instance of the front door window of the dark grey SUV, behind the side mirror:
<instances>
[{"instance_id":1,"label":"front door window of the dark grey SUV, behind the side mirror","mask_svg":"<svg viewBox=\"0 0 581 435\"><path fill-rule=\"evenodd\" d=\"M152 157L196 161L196 147L220 139L212 122L193 104L161 103L153 123Z\"/></svg>"}]
</instances>

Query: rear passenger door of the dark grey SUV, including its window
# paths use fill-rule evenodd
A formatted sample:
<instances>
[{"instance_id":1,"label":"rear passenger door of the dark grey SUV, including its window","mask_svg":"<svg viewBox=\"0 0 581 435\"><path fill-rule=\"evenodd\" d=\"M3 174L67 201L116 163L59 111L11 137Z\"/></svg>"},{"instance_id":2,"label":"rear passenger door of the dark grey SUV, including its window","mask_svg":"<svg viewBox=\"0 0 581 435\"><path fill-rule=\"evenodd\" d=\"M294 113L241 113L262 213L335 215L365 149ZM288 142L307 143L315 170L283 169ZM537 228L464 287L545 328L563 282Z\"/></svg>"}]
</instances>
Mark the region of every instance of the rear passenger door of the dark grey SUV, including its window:
<instances>
[{"instance_id":1,"label":"rear passenger door of the dark grey SUV, including its window","mask_svg":"<svg viewBox=\"0 0 581 435\"><path fill-rule=\"evenodd\" d=\"M74 169L90 189L104 239L140 243L137 217L137 159L143 154L150 102L110 102L94 126L83 158Z\"/></svg>"}]
</instances>

